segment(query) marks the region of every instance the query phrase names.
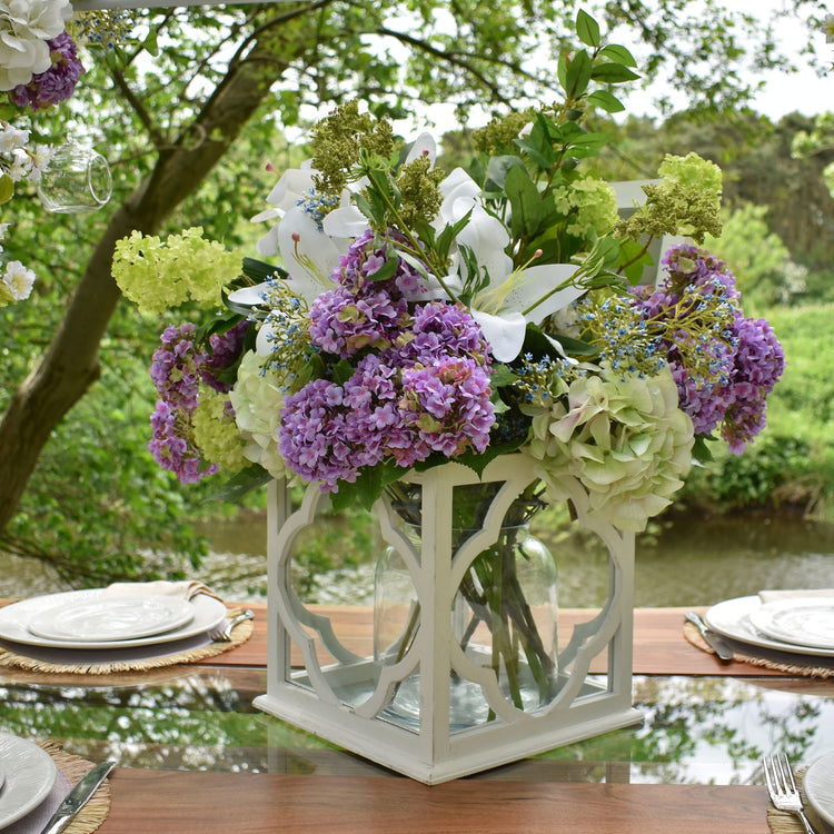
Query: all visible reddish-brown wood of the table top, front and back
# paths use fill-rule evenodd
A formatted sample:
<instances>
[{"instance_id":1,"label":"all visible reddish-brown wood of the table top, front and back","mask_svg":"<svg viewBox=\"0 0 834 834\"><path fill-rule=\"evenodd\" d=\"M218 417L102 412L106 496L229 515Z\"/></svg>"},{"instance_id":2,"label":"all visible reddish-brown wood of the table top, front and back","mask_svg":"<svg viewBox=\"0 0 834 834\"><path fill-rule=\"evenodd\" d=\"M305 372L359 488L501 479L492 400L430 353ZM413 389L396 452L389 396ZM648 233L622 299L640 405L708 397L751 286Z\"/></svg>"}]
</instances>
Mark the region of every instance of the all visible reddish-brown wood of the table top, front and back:
<instances>
[{"instance_id":1,"label":"all visible reddish-brown wood of the table top, front and back","mask_svg":"<svg viewBox=\"0 0 834 834\"><path fill-rule=\"evenodd\" d=\"M0 603L1 604L1 603ZM255 610L255 631L244 645L200 662L206 675L225 671L230 681L256 676L260 686L267 664L266 605ZM369 609L322 608L331 614L335 631L357 651L367 651L370 639ZM643 608L634 613L635 675L733 677L755 679L759 686L834 695L834 682L813 681L785 672L744 663L723 663L699 651L684 637L685 608ZM703 613L703 608L701 612ZM559 613L559 627L588 619L593 613ZM193 674L193 666L181 667ZM175 672L169 668L168 672ZM89 683L72 676L72 683ZM0 678L26 685L27 674L3 669ZM34 682L38 683L38 682ZM96 683L106 684L106 681ZM237 686L238 684L236 684ZM242 685L242 683L240 684ZM60 738L57 738L60 743ZM91 758L106 755L90 748ZM553 777L554 767L565 763L532 758L513 770L485 774L428 787L418 782L375 772L356 756L350 771L328 773L318 767L337 751L311 749L311 772L278 763L268 773L230 773L197 770L141 770L117 767L111 776L112 805L101 834L260 834L287 831L294 834L398 834L449 832L451 834L668 834L681 831L699 834L768 834L767 796L757 785L629 784L629 764L612 762L605 782L582 776ZM350 754L338 752L340 763ZM296 756L298 758L298 756ZM572 762L579 765L580 762ZM171 765L176 767L177 765ZM179 765L182 766L181 764ZM598 774L597 774L598 778Z\"/></svg>"}]
</instances>

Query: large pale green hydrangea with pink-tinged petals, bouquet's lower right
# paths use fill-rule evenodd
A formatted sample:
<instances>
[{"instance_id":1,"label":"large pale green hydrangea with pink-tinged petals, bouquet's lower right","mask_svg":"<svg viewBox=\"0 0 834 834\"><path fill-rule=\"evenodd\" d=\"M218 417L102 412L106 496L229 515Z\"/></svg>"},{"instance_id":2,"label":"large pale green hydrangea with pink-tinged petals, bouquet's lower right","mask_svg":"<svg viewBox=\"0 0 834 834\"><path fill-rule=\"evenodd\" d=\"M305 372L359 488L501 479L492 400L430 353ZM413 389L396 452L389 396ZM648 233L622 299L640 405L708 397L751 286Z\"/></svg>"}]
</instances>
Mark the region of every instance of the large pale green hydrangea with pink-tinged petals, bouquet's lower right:
<instances>
[{"instance_id":1,"label":"large pale green hydrangea with pink-tinged petals, bouquet's lower right","mask_svg":"<svg viewBox=\"0 0 834 834\"><path fill-rule=\"evenodd\" d=\"M535 417L527 454L552 500L569 496L559 477L587 489L590 517L638 533L667 507L692 465L693 425L678 408L667 367L654 377L604 367L575 379L567 403Z\"/></svg>"}]
</instances>

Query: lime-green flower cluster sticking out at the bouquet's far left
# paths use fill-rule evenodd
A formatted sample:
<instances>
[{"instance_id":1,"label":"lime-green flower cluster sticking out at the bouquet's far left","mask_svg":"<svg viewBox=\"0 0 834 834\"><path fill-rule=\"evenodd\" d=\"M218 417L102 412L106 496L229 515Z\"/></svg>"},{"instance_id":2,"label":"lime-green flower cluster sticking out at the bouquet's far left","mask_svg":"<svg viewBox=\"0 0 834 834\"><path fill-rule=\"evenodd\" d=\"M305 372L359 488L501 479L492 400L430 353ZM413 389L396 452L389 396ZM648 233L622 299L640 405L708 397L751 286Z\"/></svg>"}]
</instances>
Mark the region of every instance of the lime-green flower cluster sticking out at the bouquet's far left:
<instances>
[{"instance_id":1,"label":"lime-green flower cluster sticking out at the bouquet's far left","mask_svg":"<svg viewBox=\"0 0 834 834\"><path fill-rule=\"evenodd\" d=\"M116 244L112 276L142 312L159 315L189 298L220 305L220 290L240 274L242 258L206 240L199 226L165 241L133 231Z\"/></svg>"}]
</instances>

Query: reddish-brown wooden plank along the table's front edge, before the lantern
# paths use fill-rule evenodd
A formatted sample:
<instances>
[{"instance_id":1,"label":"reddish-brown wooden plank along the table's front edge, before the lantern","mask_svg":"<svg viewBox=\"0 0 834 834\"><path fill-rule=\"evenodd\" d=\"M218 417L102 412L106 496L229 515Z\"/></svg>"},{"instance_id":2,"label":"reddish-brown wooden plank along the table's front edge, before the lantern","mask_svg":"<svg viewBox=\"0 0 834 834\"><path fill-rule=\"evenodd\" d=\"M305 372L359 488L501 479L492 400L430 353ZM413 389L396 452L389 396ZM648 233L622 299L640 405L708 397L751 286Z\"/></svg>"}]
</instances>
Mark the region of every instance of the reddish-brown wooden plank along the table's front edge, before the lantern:
<instances>
[{"instance_id":1,"label":"reddish-brown wooden plank along the table's front edge, before the lantern","mask_svg":"<svg viewBox=\"0 0 834 834\"><path fill-rule=\"evenodd\" d=\"M117 768L100 834L768 834L764 787Z\"/></svg>"}]
</instances>

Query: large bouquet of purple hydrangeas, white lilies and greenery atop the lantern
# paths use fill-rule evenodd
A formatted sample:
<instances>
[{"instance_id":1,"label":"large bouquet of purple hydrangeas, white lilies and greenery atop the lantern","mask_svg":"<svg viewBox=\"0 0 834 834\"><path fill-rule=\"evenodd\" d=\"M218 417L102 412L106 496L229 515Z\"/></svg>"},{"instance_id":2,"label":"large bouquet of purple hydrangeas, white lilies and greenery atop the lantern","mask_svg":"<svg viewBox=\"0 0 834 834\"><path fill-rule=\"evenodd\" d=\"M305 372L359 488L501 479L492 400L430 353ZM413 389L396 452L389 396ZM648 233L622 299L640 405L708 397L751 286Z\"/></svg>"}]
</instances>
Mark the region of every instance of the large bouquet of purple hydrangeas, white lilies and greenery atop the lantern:
<instances>
[{"instance_id":1,"label":"large bouquet of purple hydrangeas, white lilies and greenery atop the lantern","mask_svg":"<svg viewBox=\"0 0 834 834\"><path fill-rule=\"evenodd\" d=\"M564 100L477 131L468 172L444 172L429 135L401 147L347 102L254 218L267 224L259 259L200 229L117 245L113 276L140 307L220 309L166 329L153 356L161 466L183 481L286 475L337 507L370 506L407 468L483 471L519 451L550 498L570 474L594 513L641 530L682 486L696 439L717 433L733 453L753 440L784 354L699 248L721 234L721 170L669 156L620 219L592 167L607 137L580 117L620 109L610 90L636 78L634 61L584 12L577 33ZM667 234L693 244L638 286Z\"/></svg>"}]
</instances>

